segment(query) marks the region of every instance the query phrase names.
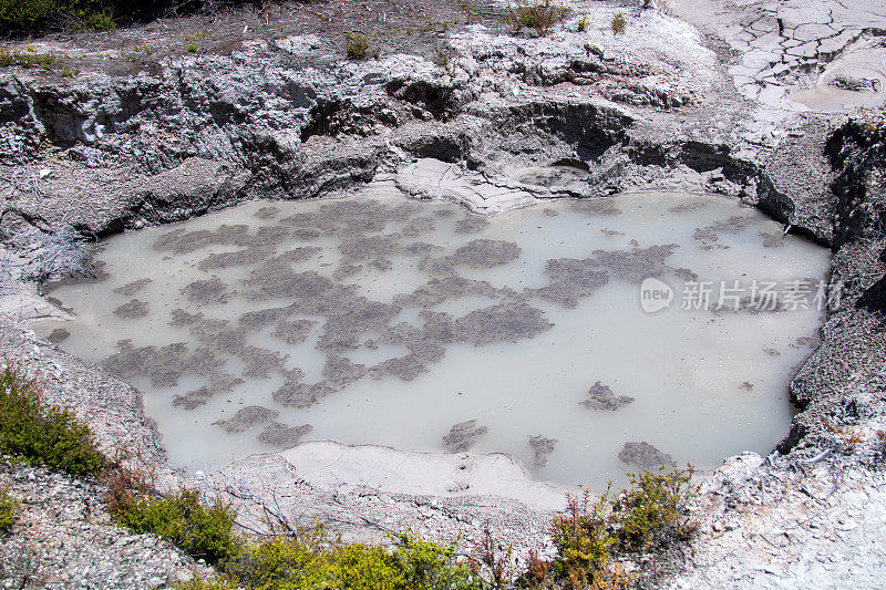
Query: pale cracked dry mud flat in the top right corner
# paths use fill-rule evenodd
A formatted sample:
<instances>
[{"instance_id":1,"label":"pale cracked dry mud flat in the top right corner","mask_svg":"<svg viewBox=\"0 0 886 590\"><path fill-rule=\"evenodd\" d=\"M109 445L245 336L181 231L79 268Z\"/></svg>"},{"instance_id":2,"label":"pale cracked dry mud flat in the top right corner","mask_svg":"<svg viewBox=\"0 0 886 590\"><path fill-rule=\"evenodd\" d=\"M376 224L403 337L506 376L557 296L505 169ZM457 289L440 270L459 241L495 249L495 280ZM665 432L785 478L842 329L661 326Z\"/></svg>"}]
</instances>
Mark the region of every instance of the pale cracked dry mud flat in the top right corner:
<instances>
[{"instance_id":1,"label":"pale cracked dry mud flat in the top right corner","mask_svg":"<svg viewBox=\"0 0 886 590\"><path fill-rule=\"evenodd\" d=\"M791 100L841 110L852 101L844 91L864 90L863 105L883 104L886 66L875 53L886 21L882 2L723 2L694 17L691 4L670 3L702 30L715 29L740 55L729 73L743 96L779 110L792 108Z\"/></svg>"}]
</instances>

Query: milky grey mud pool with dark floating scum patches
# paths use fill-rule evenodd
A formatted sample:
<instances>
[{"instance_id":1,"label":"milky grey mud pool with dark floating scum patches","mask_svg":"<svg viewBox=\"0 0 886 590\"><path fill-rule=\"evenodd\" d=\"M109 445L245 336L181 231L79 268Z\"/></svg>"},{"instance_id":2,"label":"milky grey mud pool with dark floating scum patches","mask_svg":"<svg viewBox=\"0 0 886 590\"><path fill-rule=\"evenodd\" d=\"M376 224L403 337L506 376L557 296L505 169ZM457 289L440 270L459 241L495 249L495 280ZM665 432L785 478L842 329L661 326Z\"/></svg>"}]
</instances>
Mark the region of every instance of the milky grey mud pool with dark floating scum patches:
<instances>
[{"instance_id":1,"label":"milky grey mud pool with dark floating scum patches","mask_svg":"<svg viewBox=\"0 0 886 590\"><path fill-rule=\"evenodd\" d=\"M597 487L769 452L827 265L717 197L484 218L384 185L111 238L95 280L51 289L75 319L32 329L144 392L178 465L333 439ZM650 284L669 306L643 310Z\"/></svg>"}]
</instances>

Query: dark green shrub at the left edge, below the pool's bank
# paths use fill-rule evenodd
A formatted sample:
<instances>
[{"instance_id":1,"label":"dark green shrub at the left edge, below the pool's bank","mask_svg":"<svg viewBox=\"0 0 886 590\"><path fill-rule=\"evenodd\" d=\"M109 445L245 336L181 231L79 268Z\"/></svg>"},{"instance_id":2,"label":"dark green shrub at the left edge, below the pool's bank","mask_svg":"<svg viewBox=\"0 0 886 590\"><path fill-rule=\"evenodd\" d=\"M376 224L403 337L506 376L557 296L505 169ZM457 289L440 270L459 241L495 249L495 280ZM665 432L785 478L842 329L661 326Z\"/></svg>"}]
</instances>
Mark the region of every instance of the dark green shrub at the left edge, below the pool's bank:
<instances>
[{"instance_id":1,"label":"dark green shrub at the left edge, below the pool's bank","mask_svg":"<svg viewBox=\"0 0 886 590\"><path fill-rule=\"evenodd\" d=\"M97 475L107 465L90 428L43 403L39 389L10 368L0 374L0 453L74 476Z\"/></svg>"}]
</instances>

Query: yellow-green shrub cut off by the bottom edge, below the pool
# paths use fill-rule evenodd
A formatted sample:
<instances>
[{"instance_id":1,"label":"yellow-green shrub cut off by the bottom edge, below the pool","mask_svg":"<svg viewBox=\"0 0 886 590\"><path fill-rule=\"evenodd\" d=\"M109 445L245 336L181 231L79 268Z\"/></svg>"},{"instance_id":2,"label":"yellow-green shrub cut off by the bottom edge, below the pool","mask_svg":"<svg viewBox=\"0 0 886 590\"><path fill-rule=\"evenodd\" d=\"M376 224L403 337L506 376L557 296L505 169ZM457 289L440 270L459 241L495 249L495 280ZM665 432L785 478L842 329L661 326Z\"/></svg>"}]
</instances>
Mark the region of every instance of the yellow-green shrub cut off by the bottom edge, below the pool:
<instances>
[{"instance_id":1,"label":"yellow-green shrub cut off by the bottom edge, below the pool","mask_svg":"<svg viewBox=\"0 0 886 590\"><path fill-rule=\"evenodd\" d=\"M322 528L245 549L228 563L233 583L255 589L349 588L356 590L482 588L471 571L453 562L453 548L410 534L381 546L330 540Z\"/></svg>"}]
</instances>

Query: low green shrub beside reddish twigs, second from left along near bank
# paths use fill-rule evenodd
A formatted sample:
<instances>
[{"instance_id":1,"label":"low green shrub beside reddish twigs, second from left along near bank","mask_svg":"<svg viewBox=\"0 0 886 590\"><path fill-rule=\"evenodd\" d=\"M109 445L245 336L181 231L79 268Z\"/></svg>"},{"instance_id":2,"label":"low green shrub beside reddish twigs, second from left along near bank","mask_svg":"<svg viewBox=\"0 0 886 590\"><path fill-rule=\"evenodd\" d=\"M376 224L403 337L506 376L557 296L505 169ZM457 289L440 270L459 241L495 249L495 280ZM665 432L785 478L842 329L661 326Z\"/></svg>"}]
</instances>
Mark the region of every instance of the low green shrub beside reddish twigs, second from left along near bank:
<instances>
[{"instance_id":1,"label":"low green shrub beside reddish twigs, second from left along near bank","mask_svg":"<svg viewBox=\"0 0 886 590\"><path fill-rule=\"evenodd\" d=\"M112 483L109 488L107 508L121 526L158 535L209 563L230 560L239 551L240 541L233 530L237 515L227 504L205 505L195 489L163 497L143 483L120 487Z\"/></svg>"}]
</instances>

